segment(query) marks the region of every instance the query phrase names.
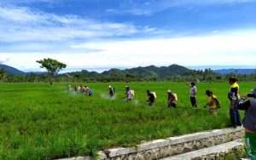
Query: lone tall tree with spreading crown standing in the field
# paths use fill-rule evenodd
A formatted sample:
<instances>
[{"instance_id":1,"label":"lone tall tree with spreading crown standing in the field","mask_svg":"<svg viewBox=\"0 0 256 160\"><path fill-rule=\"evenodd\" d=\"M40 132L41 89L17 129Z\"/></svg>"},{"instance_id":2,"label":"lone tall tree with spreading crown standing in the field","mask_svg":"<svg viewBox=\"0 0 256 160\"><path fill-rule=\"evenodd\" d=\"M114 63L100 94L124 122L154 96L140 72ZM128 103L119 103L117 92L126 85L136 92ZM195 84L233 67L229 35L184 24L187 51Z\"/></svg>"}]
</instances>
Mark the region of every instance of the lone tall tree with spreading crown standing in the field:
<instances>
[{"instance_id":1,"label":"lone tall tree with spreading crown standing in the field","mask_svg":"<svg viewBox=\"0 0 256 160\"><path fill-rule=\"evenodd\" d=\"M48 71L50 85L52 85L55 79L55 75L58 74L58 72L61 71L63 68L67 67L66 64L50 58L44 60L37 60L37 62L41 64L41 68L45 68Z\"/></svg>"}]
</instances>

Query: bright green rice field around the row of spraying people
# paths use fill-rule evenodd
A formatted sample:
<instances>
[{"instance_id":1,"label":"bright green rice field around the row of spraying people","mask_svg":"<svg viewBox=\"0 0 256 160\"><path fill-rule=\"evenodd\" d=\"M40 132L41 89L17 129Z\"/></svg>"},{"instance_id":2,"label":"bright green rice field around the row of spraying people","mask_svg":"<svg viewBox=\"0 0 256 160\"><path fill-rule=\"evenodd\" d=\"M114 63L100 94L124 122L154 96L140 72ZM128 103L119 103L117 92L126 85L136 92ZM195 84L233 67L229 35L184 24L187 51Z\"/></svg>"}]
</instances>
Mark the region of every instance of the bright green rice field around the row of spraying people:
<instances>
[{"instance_id":1,"label":"bright green rice field around the row of spraying people","mask_svg":"<svg viewBox=\"0 0 256 160\"><path fill-rule=\"evenodd\" d=\"M83 83L72 83L82 85ZM85 84L84 84L85 85ZM93 96L67 91L67 83L1 83L0 159L54 159L94 155L114 146L230 126L228 83L198 83L198 106L189 102L184 83L111 83L116 98L108 99L109 83L88 83ZM135 90L124 100L124 86ZM240 83L241 93L255 83ZM148 107L146 90L158 98ZM175 109L166 106L166 90L177 93ZM206 89L221 101L218 116L208 114Z\"/></svg>"}]
</instances>

